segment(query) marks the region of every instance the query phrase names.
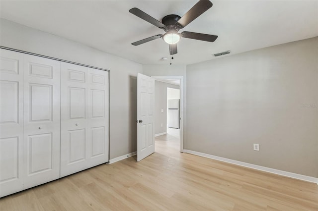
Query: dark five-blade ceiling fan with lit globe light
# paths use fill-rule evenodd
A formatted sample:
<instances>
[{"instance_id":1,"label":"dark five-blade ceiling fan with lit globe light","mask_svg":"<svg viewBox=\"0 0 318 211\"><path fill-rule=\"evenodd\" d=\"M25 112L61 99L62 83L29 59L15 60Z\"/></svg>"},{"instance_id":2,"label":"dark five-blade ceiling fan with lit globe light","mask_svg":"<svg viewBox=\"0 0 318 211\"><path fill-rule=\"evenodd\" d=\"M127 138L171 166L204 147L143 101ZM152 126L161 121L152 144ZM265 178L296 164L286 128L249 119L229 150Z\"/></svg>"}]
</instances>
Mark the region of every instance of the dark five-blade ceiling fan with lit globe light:
<instances>
[{"instance_id":1,"label":"dark five-blade ceiling fan with lit globe light","mask_svg":"<svg viewBox=\"0 0 318 211\"><path fill-rule=\"evenodd\" d=\"M196 32L187 32L183 31L178 33L180 29L183 29L186 25L191 23L194 19L199 17L205 11L212 7L212 2L209 0L199 0L189 11L185 13L182 17L179 15L166 15L162 18L162 21L159 22L157 19L143 12L142 10L134 7L129 10L130 13L144 19L145 21L163 29L165 34L163 35L155 35L137 42L132 43L134 46L138 46L144 43L147 43L152 40L156 40L162 38L167 44L169 44L169 52L170 55L174 55L178 53L177 51L177 42L183 38L202 40L207 42L214 42L218 36L216 35L208 35L201 34Z\"/></svg>"}]
</instances>

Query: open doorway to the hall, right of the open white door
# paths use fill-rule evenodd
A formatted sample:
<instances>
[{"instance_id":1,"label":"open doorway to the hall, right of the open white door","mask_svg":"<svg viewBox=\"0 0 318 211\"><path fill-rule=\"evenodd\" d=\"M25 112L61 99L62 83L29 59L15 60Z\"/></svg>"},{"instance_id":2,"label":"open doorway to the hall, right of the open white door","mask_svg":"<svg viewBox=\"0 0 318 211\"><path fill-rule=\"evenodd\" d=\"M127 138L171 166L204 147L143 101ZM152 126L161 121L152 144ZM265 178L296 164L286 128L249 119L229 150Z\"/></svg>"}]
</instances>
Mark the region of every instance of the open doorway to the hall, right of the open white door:
<instances>
[{"instance_id":1,"label":"open doorway to the hall, right of the open white door","mask_svg":"<svg viewBox=\"0 0 318 211\"><path fill-rule=\"evenodd\" d=\"M155 96L157 99L157 114L155 114L155 127L157 125L157 132L155 131L155 138L158 140L158 143L164 144L156 146L160 150L161 147L164 149L169 148L172 151L183 152L183 77L182 76L152 76L155 79L155 86L157 83L157 90L155 91ZM164 83L165 85L162 85ZM158 86L158 84L161 84ZM161 90L159 90L161 88ZM169 92L168 89L170 89ZM173 97L178 92L178 97ZM162 94L164 92L164 94ZM172 94L171 94L172 93ZM162 95L161 95L162 94ZM172 95L172 97L171 97ZM178 100L178 109L176 106L172 106L172 109L169 109L168 105L168 96L169 100ZM156 102L156 100L155 100ZM160 102L160 103L159 103ZM159 106L160 105L160 106ZM156 107L156 106L155 106ZM170 111L170 112L169 112ZM178 117L175 117L174 114L174 123L169 125L168 123L168 112L176 113L178 112ZM177 120L175 120L177 118ZM176 122L177 121L177 122ZM177 124L178 123L178 124ZM178 126L176 126L178 125ZM160 130L161 129L161 130ZM156 129L155 129L156 130ZM161 142L164 141L164 142ZM157 143L157 142L156 142Z\"/></svg>"}]
</instances>

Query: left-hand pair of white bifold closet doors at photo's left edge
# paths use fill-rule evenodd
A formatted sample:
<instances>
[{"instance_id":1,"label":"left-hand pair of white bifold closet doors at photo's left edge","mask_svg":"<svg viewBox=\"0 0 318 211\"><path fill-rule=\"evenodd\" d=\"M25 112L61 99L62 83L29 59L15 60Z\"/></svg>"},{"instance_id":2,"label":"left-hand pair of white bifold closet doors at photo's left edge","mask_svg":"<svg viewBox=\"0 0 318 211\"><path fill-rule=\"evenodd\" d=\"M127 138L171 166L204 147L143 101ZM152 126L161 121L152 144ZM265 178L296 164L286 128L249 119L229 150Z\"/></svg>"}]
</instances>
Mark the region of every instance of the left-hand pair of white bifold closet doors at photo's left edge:
<instances>
[{"instance_id":1,"label":"left-hand pair of white bifold closet doors at photo's left edge","mask_svg":"<svg viewBox=\"0 0 318 211\"><path fill-rule=\"evenodd\" d=\"M60 62L0 53L2 197L60 177Z\"/></svg>"}]
</instances>

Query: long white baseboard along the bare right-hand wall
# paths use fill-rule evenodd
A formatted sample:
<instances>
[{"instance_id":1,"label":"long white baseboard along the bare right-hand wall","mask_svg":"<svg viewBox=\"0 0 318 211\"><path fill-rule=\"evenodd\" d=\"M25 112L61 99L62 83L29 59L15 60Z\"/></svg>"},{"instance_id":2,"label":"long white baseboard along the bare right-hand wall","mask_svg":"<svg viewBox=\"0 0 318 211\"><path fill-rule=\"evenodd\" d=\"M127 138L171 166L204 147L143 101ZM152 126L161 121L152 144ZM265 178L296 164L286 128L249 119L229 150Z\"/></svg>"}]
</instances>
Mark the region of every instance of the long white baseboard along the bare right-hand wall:
<instances>
[{"instance_id":1,"label":"long white baseboard along the bare right-hand wall","mask_svg":"<svg viewBox=\"0 0 318 211\"><path fill-rule=\"evenodd\" d=\"M183 150L183 152L188 153L188 154L192 154L192 155L196 155L196 156L205 157L205 158L216 159L216 160L220 160L223 162L228 162L228 163L244 166L247 168L253 168L256 170L260 170L260 171L266 171L266 172L273 173L273 174L287 176L287 177L291 177L294 179L300 179L300 180L304 180L307 182L314 182L314 183L317 183L317 185L318 185L318 178L316 178L316 177L306 176L306 175L302 175L302 174L296 174L296 173L282 171L282 170L278 170L278 169L274 169L274 168L268 168L268 167L264 167L264 166L260 166L260 165L247 163L247 162L241 162L241 161L234 160L234 159L222 158L222 157L213 156L213 155L209 155L209 154L205 154L205 153L199 153L199 152L195 152L195 151L191 151L191 150Z\"/></svg>"}]
</instances>

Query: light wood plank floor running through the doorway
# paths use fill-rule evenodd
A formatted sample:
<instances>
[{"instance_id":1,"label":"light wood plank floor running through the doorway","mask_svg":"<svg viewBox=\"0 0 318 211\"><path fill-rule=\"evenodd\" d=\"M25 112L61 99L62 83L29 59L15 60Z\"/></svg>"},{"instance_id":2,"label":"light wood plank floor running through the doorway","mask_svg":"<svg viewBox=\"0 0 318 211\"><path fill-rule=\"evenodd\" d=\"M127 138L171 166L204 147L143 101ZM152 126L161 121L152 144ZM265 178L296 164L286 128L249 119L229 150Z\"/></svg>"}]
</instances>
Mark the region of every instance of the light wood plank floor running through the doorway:
<instances>
[{"instance_id":1,"label":"light wood plank floor running through the doorway","mask_svg":"<svg viewBox=\"0 0 318 211\"><path fill-rule=\"evenodd\" d=\"M0 199L1 211L318 211L318 185L178 153L173 135L156 153L103 164Z\"/></svg>"}]
</instances>

